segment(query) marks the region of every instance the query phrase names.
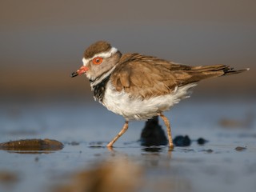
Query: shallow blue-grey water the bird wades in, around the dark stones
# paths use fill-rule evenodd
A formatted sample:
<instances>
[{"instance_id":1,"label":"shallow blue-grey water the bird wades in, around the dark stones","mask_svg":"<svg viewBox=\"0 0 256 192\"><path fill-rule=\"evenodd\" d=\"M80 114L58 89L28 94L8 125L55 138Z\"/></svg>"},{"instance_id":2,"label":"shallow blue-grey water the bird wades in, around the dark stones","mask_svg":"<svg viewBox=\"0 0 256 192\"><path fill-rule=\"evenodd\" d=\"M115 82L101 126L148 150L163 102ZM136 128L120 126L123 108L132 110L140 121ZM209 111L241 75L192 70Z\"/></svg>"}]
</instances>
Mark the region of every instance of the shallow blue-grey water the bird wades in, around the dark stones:
<instances>
[{"instance_id":1,"label":"shallow blue-grey water the bird wades in, around the dark stones","mask_svg":"<svg viewBox=\"0 0 256 192\"><path fill-rule=\"evenodd\" d=\"M72 182L72 174L117 159L141 171L138 176L123 166L130 179L140 181L137 191L254 191L255 106L254 101L242 100L181 102L165 114L173 136L187 134L193 142L170 151L167 146L140 145L144 122L130 122L113 150L107 149L124 121L96 102L5 102L0 109L0 142L51 138L65 146L34 154L0 150L0 191L51 191ZM200 137L209 142L198 145L195 140ZM237 146L246 149L235 150ZM1 179L6 173L16 179Z\"/></svg>"}]
</instances>

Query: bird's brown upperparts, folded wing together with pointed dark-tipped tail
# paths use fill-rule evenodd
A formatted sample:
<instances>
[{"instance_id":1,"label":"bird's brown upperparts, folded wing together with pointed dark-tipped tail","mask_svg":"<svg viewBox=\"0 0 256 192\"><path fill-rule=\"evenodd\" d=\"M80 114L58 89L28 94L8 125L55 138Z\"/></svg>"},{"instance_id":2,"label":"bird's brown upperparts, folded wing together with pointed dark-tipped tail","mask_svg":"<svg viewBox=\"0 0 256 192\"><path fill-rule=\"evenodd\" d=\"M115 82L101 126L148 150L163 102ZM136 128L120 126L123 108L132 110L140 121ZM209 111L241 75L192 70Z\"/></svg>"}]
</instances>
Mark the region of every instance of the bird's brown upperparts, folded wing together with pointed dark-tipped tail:
<instances>
[{"instance_id":1,"label":"bird's brown upperparts, folded wing together with pointed dark-tipped tail","mask_svg":"<svg viewBox=\"0 0 256 192\"><path fill-rule=\"evenodd\" d=\"M124 54L111 75L116 90L150 98L170 94L176 86L184 86L205 78L237 74L230 66L184 66L141 54Z\"/></svg>"}]
</instances>

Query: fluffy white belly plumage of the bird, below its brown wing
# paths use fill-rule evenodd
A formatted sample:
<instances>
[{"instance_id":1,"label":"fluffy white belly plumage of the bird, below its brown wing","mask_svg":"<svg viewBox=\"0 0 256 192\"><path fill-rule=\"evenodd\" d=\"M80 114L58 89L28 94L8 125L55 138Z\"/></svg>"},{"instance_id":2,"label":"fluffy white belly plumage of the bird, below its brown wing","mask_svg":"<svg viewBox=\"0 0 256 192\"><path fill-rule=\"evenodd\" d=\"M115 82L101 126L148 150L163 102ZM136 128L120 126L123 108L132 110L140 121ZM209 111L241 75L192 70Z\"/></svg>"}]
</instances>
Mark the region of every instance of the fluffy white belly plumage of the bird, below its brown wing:
<instances>
[{"instance_id":1,"label":"fluffy white belly plumage of the bird, below its brown wing","mask_svg":"<svg viewBox=\"0 0 256 192\"><path fill-rule=\"evenodd\" d=\"M106 92L102 104L115 114L120 114L126 120L150 119L159 112L170 110L171 106L178 103L182 98L190 96L190 88L196 86L195 83L178 87L172 94L166 94L155 98L132 98L124 90L118 92L114 90L111 82L106 85Z\"/></svg>"}]
</instances>

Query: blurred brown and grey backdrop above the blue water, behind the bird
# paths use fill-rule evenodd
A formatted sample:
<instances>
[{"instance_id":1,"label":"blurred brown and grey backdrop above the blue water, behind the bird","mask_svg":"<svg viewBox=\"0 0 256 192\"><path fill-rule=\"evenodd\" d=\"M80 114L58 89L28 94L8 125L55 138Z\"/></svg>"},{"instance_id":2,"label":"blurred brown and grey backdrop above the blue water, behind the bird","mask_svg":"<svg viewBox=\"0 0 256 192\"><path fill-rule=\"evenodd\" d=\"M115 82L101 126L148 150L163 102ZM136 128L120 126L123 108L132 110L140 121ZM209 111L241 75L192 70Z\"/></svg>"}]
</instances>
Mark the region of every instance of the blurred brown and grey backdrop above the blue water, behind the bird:
<instances>
[{"instance_id":1,"label":"blurred brown and grey backdrop above the blue water, behind the bird","mask_svg":"<svg viewBox=\"0 0 256 192\"><path fill-rule=\"evenodd\" d=\"M70 78L70 73L82 65L86 47L98 40L122 53L191 66L250 67L243 74L202 82L195 93L206 98L255 98L255 7L254 0L2 0L1 100L91 96L86 77Z\"/></svg>"}]
</instances>

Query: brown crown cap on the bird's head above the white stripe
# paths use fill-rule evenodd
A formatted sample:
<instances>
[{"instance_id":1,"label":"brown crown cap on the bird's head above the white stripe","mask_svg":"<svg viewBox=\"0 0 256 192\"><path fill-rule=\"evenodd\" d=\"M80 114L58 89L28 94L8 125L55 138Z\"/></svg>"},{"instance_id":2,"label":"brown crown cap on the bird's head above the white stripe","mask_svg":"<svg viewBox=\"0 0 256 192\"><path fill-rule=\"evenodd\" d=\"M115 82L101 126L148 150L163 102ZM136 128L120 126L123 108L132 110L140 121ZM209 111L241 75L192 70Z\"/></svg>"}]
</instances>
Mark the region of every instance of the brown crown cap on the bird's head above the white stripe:
<instances>
[{"instance_id":1,"label":"brown crown cap on the bird's head above the white stripe","mask_svg":"<svg viewBox=\"0 0 256 192\"><path fill-rule=\"evenodd\" d=\"M94 54L99 54L102 52L106 52L111 49L111 45L108 42L99 41L94 42L94 44L90 45L84 54L85 58L92 58Z\"/></svg>"}]
</instances>

